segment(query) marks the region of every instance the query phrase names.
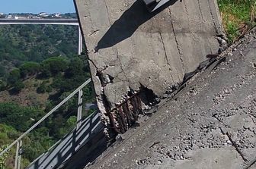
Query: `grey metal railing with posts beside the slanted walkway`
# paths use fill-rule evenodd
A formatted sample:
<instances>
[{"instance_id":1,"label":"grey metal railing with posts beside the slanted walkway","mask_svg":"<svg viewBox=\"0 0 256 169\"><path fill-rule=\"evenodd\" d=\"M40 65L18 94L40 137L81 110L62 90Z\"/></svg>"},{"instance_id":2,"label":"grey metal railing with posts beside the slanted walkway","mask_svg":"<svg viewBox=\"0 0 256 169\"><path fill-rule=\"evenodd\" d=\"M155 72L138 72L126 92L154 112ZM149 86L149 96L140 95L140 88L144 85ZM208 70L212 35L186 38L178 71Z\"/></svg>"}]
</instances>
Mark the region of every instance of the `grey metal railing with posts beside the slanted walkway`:
<instances>
[{"instance_id":1,"label":"grey metal railing with posts beside the slanted walkway","mask_svg":"<svg viewBox=\"0 0 256 169\"><path fill-rule=\"evenodd\" d=\"M43 120L45 120L47 117L53 114L53 112L55 112L63 104L68 102L69 99L71 99L77 92L78 92L78 112L77 112L76 129L78 130L78 128L81 126L81 120L82 120L82 89L86 85L88 85L88 83L90 82L91 82L91 79L88 79L85 83L83 83L81 86L75 89L75 91L72 92L69 96L67 96L66 99L62 100L62 102L60 102L59 105L56 105L55 108L53 108L51 111L45 114L40 120L38 120L36 124L30 127L25 133L21 134L21 136L19 136L18 139L12 142L5 150L0 152L0 156L4 155L5 152L8 152L8 150L11 149L11 147L16 144L17 147L16 147L16 154L15 154L15 161L14 161L14 169L20 169L21 168L21 146L22 146L22 139L24 138L24 136L27 136L27 134L30 133L32 130L34 130L39 124L41 124Z\"/></svg>"}]
</instances>

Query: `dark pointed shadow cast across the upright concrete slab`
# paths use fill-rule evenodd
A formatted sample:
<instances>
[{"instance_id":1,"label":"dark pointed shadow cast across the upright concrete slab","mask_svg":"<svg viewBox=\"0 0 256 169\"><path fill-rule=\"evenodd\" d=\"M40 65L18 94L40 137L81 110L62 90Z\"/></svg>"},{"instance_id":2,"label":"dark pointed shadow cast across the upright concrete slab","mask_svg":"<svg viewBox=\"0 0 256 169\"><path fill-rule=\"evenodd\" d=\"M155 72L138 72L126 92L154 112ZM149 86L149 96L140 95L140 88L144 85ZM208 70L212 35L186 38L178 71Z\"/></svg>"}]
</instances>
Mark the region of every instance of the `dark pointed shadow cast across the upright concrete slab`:
<instances>
[{"instance_id":1,"label":"dark pointed shadow cast across the upright concrete slab","mask_svg":"<svg viewBox=\"0 0 256 169\"><path fill-rule=\"evenodd\" d=\"M116 45L119 42L122 42L124 39L129 38L137 30L137 28L145 23L147 20L150 20L159 12L163 11L165 8L168 8L170 5L174 5L178 0L171 0L163 5L158 10L150 13L144 2L142 0L137 0L133 5L127 9L122 16L116 20L113 25L107 30L107 33L101 38L95 47L95 52L98 52L100 49L105 49Z\"/></svg>"}]
</instances>

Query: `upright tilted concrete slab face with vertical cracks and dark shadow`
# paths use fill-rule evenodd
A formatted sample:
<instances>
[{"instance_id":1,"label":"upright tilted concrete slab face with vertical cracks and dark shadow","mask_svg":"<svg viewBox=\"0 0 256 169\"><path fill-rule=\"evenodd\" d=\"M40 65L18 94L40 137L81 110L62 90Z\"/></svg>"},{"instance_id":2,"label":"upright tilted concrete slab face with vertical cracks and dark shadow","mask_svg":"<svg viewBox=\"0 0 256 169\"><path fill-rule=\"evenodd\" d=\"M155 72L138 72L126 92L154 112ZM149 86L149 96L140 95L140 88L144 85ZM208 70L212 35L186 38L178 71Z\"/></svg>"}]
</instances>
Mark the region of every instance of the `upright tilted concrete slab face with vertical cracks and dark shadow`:
<instances>
[{"instance_id":1,"label":"upright tilted concrete slab face with vertical cracks and dark shadow","mask_svg":"<svg viewBox=\"0 0 256 169\"><path fill-rule=\"evenodd\" d=\"M162 97L219 50L216 0L173 0L152 14L141 0L75 4L103 114L145 87Z\"/></svg>"}]
</instances>

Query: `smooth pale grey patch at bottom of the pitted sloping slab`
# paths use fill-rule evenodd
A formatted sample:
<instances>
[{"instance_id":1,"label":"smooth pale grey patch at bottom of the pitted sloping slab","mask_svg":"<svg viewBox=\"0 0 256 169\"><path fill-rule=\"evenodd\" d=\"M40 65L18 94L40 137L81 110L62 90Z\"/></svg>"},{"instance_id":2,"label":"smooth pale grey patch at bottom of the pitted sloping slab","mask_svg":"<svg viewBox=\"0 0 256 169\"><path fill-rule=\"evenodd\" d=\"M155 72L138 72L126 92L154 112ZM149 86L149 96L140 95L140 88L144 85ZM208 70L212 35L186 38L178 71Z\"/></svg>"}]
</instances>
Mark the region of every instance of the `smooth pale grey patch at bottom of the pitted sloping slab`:
<instances>
[{"instance_id":1,"label":"smooth pale grey patch at bottom of the pitted sloping slab","mask_svg":"<svg viewBox=\"0 0 256 169\"><path fill-rule=\"evenodd\" d=\"M190 159L172 161L166 163L158 161L157 164L148 164L145 169L241 169L242 158L232 148L226 149L199 149L189 152ZM163 164L162 164L163 163Z\"/></svg>"}]
</instances>

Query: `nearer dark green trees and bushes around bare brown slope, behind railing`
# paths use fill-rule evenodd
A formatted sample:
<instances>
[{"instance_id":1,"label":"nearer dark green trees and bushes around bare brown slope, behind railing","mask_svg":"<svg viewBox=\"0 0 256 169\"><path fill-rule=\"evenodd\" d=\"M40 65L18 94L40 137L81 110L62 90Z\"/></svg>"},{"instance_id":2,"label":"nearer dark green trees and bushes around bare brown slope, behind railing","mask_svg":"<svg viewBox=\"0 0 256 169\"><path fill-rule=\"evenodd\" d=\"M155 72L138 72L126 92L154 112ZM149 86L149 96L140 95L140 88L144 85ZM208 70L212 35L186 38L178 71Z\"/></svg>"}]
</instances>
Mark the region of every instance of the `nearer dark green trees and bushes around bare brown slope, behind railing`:
<instances>
[{"instance_id":1,"label":"nearer dark green trees and bushes around bare brown slope, behind railing","mask_svg":"<svg viewBox=\"0 0 256 169\"><path fill-rule=\"evenodd\" d=\"M9 89L12 95L18 95L18 92L27 87L27 83L34 81L37 82L37 85L33 85L37 92L48 93L49 98L43 106L38 105L37 102L29 107L13 102L0 102L1 145L8 145L17 139L21 133L24 133L43 117L43 114L65 99L72 90L88 78L90 78L90 74L85 56L75 56L72 59L52 57L40 63L24 62L20 67L11 70L7 82L3 83L6 85L3 89ZM94 102L92 85L85 86L83 91L84 101ZM70 99L55 114L45 120L37 130L34 130L24 139L24 161L27 163L33 161L35 157L49 149L57 140L75 127L77 102L77 97ZM91 114L91 111L83 114L86 117ZM14 155L14 149L11 150L10 155Z\"/></svg>"}]
</instances>

